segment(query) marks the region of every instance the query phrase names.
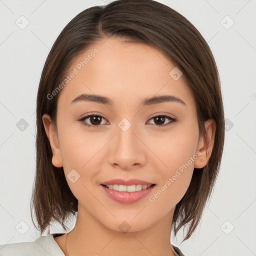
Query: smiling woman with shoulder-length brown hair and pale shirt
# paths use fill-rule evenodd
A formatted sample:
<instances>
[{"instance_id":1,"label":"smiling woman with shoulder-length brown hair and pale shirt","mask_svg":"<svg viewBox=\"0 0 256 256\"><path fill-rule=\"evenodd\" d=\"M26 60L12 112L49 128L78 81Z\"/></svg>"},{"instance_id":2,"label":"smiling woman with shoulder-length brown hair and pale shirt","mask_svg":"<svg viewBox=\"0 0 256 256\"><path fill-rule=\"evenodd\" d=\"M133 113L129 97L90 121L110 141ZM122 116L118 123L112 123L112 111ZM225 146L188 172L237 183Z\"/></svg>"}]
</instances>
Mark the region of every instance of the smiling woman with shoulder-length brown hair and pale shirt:
<instances>
[{"instance_id":1,"label":"smiling woman with shoulder-length brown hair and pale shirt","mask_svg":"<svg viewBox=\"0 0 256 256\"><path fill-rule=\"evenodd\" d=\"M34 225L76 222L0 255L183 255L171 229L195 230L224 141L217 67L185 17L153 0L80 12L48 54L36 113Z\"/></svg>"}]
</instances>

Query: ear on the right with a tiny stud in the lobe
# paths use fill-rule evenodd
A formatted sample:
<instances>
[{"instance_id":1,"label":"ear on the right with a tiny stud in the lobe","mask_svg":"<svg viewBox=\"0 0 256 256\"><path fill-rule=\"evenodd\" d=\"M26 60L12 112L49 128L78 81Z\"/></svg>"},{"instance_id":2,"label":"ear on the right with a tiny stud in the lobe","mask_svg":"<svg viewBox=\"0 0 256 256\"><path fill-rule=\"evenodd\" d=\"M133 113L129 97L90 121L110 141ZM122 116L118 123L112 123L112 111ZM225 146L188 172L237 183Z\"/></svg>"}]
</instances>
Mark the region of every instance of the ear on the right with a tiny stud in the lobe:
<instances>
[{"instance_id":1,"label":"ear on the right with a tiny stud in the lobe","mask_svg":"<svg viewBox=\"0 0 256 256\"><path fill-rule=\"evenodd\" d=\"M208 119L204 122L205 137L200 136L198 140L197 151L201 154L194 160L194 168L202 168L208 162L214 143L214 136L216 131L216 123L213 119Z\"/></svg>"}]
</instances>

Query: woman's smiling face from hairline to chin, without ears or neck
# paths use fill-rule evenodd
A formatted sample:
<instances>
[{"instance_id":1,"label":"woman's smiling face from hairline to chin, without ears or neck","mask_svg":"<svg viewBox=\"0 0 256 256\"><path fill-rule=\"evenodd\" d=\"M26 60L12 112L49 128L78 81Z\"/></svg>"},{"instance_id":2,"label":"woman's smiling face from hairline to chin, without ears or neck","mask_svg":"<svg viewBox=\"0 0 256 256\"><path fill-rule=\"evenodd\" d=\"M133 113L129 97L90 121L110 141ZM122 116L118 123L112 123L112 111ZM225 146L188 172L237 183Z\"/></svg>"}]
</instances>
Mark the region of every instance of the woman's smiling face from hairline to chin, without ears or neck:
<instances>
[{"instance_id":1,"label":"woman's smiling face from hairline to chin, without ears or neck","mask_svg":"<svg viewBox=\"0 0 256 256\"><path fill-rule=\"evenodd\" d=\"M58 158L54 165L63 164L78 213L116 231L123 221L130 231L139 231L173 212L200 149L195 102L180 74L155 48L119 38L104 39L72 61L68 82L58 92L57 137L53 134L50 141ZM96 102L96 96L111 103ZM148 100L159 96L169 98ZM155 185L147 192L117 192L102 185L115 178ZM141 189L128 189L134 187ZM145 194L138 199L132 193Z\"/></svg>"}]
</instances>

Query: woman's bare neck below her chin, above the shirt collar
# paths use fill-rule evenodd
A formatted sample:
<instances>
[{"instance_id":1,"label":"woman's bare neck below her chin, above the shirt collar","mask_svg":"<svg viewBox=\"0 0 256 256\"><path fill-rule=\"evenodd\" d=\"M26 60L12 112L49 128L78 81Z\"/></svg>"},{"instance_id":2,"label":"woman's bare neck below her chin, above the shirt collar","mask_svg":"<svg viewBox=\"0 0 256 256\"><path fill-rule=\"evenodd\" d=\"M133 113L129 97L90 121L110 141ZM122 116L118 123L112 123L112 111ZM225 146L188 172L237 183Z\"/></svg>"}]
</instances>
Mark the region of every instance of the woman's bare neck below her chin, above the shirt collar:
<instances>
[{"instance_id":1,"label":"woman's bare neck below her chin, above the shirt collar","mask_svg":"<svg viewBox=\"0 0 256 256\"><path fill-rule=\"evenodd\" d=\"M66 254L69 256L177 255L170 244L173 210L147 229L125 233L102 225L78 204L75 226L66 239Z\"/></svg>"}]
</instances>

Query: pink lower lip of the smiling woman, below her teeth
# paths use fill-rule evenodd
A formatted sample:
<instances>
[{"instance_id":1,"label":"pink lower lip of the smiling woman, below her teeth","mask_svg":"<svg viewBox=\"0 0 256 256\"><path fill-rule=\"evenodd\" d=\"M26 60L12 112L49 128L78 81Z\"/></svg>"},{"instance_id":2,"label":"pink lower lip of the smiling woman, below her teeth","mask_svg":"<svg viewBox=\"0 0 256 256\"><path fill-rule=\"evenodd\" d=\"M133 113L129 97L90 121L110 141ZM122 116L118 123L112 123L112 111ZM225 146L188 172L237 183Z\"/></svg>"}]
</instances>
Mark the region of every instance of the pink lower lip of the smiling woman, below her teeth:
<instances>
[{"instance_id":1,"label":"pink lower lip of the smiling woman, below her teeth","mask_svg":"<svg viewBox=\"0 0 256 256\"><path fill-rule=\"evenodd\" d=\"M120 192L113 189L109 189L103 185L101 185L105 190L106 194L112 198L113 200L120 202L120 203L132 203L140 200L144 196L146 196L150 191L153 189L155 185L152 185L146 189L142 189L140 191L134 192Z\"/></svg>"}]
</instances>

